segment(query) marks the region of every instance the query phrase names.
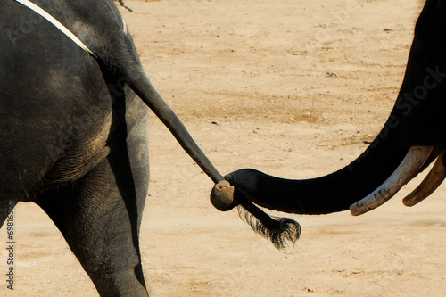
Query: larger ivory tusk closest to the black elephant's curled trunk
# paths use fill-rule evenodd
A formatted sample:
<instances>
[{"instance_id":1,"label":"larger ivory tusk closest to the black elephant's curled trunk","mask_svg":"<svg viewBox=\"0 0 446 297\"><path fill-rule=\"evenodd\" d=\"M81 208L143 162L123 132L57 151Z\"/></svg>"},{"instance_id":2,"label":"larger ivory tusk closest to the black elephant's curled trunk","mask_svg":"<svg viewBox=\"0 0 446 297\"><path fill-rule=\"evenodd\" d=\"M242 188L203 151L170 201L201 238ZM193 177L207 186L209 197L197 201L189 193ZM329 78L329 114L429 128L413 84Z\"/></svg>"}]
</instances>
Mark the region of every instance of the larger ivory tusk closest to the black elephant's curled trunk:
<instances>
[{"instance_id":1,"label":"larger ivory tusk closest to the black elephant's curled trunk","mask_svg":"<svg viewBox=\"0 0 446 297\"><path fill-rule=\"evenodd\" d=\"M389 201L394 194L400 191L402 186L417 175L418 170L425 164L433 149L434 146L412 146L404 160L384 181L383 185L378 186L374 192L350 206L351 214L359 216L369 210L375 210L384 202Z\"/></svg>"}]
</instances>

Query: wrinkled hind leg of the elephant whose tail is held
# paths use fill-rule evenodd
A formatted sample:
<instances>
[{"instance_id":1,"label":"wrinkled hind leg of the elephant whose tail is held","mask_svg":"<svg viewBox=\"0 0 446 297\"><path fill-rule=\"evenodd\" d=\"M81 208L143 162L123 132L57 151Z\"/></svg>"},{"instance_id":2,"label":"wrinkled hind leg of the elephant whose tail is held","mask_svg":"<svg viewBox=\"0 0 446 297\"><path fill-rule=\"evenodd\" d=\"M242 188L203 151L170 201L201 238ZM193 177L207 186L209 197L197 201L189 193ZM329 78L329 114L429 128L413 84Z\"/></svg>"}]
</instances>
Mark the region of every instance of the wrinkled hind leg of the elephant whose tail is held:
<instances>
[{"instance_id":1,"label":"wrinkled hind leg of the elephant whose tail is held","mask_svg":"<svg viewBox=\"0 0 446 297\"><path fill-rule=\"evenodd\" d=\"M147 296L138 243L147 185L136 188L128 162L122 164L128 158L118 159L119 164L102 161L63 191L38 197L37 204L61 230L102 296Z\"/></svg>"}]
</instances>

